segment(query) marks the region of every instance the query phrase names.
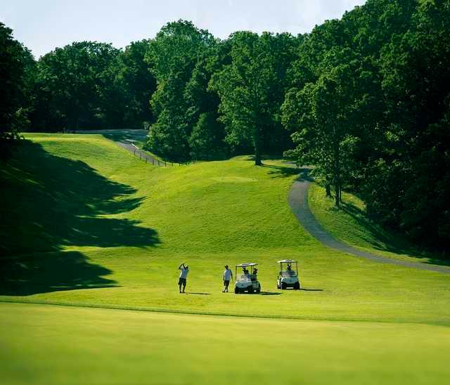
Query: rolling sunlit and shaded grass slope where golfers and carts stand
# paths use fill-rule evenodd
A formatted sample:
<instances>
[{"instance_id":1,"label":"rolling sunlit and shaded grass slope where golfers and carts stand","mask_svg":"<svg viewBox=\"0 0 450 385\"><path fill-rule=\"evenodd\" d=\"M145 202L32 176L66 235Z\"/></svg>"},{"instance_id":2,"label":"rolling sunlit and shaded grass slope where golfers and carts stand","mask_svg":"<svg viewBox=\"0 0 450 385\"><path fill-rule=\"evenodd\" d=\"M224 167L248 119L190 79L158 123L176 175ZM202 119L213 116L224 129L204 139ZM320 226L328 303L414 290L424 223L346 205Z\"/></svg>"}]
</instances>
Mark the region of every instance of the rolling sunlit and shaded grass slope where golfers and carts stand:
<instances>
[{"instance_id":1,"label":"rolling sunlit and shaded grass slope where golfers and carts stand","mask_svg":"<svg viewBox=\"0 0 450 385\"><path fill-rule=\"evenodd\" d=\"M27 138L1 172L4 301L450 324L449 275L323 247L290 212L295 174L278 162L158 168L101 136ZM281 258L300 261L304 291L276 290ZM243 261L260 263L263 295L221 293L224 264Z\"/></svg>"}]
</instances>

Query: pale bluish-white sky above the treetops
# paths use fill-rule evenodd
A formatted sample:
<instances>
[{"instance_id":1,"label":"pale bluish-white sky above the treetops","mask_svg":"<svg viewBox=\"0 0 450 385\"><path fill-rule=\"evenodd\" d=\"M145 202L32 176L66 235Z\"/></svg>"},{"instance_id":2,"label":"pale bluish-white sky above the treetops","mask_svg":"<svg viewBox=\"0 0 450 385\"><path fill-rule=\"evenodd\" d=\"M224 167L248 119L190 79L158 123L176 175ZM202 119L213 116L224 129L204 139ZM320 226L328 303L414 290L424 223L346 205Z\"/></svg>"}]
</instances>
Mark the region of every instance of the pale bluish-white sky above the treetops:
<instances>
[{"instance_id":1,"label":"pale bluish-white sky above the treetops","mask_svg":"<svg viewBox=\"0 0 450 385\"><path fill-rule=\"evenodd\" d=\"M310 32L364 0L0 0L0 21L36 58L72 41L124 47L185 19L224 39L238 30Z\"/></svg>"}]
</instances>

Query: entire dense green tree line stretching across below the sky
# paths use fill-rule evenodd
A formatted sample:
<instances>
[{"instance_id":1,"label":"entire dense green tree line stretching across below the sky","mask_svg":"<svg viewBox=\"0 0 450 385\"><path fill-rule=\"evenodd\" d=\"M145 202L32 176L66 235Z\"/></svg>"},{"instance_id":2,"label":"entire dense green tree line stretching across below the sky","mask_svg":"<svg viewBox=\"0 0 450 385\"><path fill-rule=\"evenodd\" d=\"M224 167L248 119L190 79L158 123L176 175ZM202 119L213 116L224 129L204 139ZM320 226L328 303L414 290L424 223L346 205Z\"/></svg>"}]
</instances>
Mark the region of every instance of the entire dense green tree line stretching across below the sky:
<instances>
[{"instance_id":1,"label":"entire dense green tree line stretching across below the sky","mask_svg":"<svg viewBox=\"0 0 450 385\"><path fill-rule=\"evenodd\" d=\"M124 49L34 60L0 25L1 143L18 131L148 128L166 159L252 152L314 165L374 221L450 240L450 1L368 0L309 34L216 39L179 20Z\"/></svg>"}]
</instances>

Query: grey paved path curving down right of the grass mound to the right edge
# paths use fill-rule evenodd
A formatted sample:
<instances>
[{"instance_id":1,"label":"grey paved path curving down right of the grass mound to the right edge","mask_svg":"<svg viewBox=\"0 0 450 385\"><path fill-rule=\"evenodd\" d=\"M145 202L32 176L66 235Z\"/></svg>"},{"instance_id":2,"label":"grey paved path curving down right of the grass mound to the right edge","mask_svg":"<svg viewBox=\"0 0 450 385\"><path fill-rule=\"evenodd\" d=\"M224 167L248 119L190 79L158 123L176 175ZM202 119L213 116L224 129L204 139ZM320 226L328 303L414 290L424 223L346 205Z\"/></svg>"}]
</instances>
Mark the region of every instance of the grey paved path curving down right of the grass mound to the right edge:
<instances>
[{"instance_id":1,"label":"grey paved path curving down right of the grass mound to the right edge","mask_svg":"<svg viewBox=\"0 0 450 385\"><path fill-rule=\"evenodd\" d=\"M397 259L390 259L385 256L378 256L368 252L363 252L359 249L355 249L348 244L336 240L330 233L328 233L321 224L316 220L316 217L312 214L308 206L308 188L311 184L310 181L300 176L297 181L294 182L293 187L289 192L289 205L293 213L297 217L300 224L311 235L319 240L319 242L325 244L332 249L359 256L361 258L368 259L373 262L390 263L391 265L406 266L408 268L418 268L420 270L431 270L439 273L450 274L450 269L444 266L427 265L425 263L414 263L408 261L399 261Z\"/></svg>"}]
</instances>

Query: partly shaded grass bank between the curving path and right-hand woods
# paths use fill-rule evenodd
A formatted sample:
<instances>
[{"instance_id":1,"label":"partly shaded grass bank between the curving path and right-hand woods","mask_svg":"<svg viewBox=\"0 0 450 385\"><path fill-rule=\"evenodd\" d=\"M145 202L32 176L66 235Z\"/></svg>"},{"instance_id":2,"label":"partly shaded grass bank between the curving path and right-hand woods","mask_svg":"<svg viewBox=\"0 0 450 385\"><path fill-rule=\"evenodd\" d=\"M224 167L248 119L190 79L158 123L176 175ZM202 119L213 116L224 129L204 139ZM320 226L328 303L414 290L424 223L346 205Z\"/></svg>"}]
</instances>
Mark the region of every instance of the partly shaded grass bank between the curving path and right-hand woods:
<instances>
[{"instance_id":1,"label":"partly shaded grass bank between the curving path and right-hand woods","mask_svg":"<svg viewBox=\"0 0 450 385\"><path fill-rule=\"evenodd\" d=\"M337 209L333 197L326 197L325 188L317 183L309 187L309 207L329 233L358 249L404 261L449 265L449 259L414 247L400 234L392 233L370 221L364 202L351 193L342 193L342 205Z\"/></svg>"}]
</instances>

